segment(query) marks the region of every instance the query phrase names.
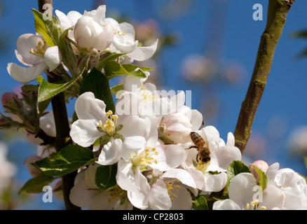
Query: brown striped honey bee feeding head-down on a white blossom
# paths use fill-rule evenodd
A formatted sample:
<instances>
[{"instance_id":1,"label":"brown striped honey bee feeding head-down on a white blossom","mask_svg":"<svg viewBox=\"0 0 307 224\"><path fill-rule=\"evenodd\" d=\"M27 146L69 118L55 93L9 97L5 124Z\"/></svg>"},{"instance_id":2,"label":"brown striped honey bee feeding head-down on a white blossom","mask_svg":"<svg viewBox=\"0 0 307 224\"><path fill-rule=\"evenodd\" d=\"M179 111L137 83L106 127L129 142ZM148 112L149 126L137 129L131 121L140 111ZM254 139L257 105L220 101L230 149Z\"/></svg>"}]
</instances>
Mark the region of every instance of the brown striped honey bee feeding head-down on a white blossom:
<instances>
[{"instance_id":1,"label":"brown striped honey bee feeding head-down on a white blossom","mask_svg":"<svg viewBox=\"0 0 307 224\"><path fill-rule=\"evenodd\" d=\"M193 141L193 144L195 146L191 146L189 148L197 148L198 155L196 157L196 161L198 164L205 164L207 162L210 162L210 149L207 141L207 137L201 137L196 132L190 133L191 140Z\"/></svg>"}]
</instances>

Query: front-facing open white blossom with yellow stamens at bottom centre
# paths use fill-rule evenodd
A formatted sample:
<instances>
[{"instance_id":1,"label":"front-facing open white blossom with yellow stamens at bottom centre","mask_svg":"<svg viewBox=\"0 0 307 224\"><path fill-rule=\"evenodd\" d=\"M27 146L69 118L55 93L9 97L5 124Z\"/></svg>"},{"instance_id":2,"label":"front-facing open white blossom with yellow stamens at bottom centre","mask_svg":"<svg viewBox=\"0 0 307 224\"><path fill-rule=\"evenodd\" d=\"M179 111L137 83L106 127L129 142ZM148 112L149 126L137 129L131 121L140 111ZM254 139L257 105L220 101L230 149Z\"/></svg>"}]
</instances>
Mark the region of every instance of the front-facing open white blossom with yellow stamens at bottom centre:
<instances>
[{"instance_id":1,"label":"front-facing open white blossom with yellow stamens at bottom centre","mask_svg":"<svg viewBox=\"0 0 307 224\"><path fill-rule=\"evenodd\" d=\"M186 158L186 151L179 145L163 145L157 136L151 137L146 146L135 151L124 151L118 161L116 182L128 191L128 198L139 209L148 207L151 186L143 173L156 169L165 172L178 167Z\"/></svg>"}]
</instances>

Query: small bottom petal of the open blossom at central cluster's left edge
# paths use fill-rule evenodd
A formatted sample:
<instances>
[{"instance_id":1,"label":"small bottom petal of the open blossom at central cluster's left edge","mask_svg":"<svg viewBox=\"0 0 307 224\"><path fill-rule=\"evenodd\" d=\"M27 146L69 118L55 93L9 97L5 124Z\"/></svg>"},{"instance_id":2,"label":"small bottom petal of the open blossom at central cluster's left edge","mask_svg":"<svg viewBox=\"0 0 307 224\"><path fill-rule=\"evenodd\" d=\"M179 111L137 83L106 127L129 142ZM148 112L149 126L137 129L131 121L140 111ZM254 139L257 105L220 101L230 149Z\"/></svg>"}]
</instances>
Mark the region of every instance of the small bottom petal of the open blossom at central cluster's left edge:
<instances>
[{"instance_id":1,"label":"small bottom petal of the open blossom at central cluster's left edge","mask_svg":"<svg viewBox=\"0 0 307 224\"><path fill-rule=\"evenodd\" d=\"M97 163L100 165L112 165L118 162L122 145L123 141L121 141L121 139L111 138L110 141L104 145L104 148L102 148Z\"/></svg>"}]
</instances>

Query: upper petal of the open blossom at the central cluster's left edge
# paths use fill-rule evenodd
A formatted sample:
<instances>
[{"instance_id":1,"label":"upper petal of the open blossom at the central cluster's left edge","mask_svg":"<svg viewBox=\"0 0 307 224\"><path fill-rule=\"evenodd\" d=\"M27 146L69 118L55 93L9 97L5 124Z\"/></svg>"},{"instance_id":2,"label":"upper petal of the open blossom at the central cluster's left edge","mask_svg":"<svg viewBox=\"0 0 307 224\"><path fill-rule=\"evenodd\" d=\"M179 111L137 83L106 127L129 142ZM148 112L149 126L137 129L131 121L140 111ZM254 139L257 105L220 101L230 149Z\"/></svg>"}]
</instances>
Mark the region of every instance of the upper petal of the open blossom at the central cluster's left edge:
<instances>
[{"instance_id":1,"label":"upper petal of the open blossom at the central cluster's left edge","mask_svg":"<svg viewBox=\"0 0 307 224\"><path fill-rule=\"evenodd\" d=\"M75 110L79 119L94 119L99 124L99 120L104 123L107 120L106 104L100 99L95 99L93 92L84 92L76 99Z\"/></svg>"}]
</instances>

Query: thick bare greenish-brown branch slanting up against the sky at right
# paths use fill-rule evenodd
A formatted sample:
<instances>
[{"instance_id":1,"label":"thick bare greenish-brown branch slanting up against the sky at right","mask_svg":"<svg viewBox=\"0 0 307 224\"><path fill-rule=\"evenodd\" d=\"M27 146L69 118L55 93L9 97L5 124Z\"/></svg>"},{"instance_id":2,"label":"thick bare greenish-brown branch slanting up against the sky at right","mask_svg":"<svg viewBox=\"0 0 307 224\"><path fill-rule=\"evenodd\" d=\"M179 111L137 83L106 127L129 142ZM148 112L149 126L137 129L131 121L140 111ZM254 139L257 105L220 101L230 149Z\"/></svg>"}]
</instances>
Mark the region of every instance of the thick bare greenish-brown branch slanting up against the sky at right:
<instances>
[{"instance_id":1,"label":"thick bare greenish-brown branch slanting up against the sky at right","mask_svg":"<svg viewBox=\"0 0 307 224\"><path fill-rule=\"evenodd\" d=\"M254 122L254 116L262 94L264 93L264 88L266 87L266 80L271 70L276 45L282 34L287 13L294 1L269 0L266 29L264 30L264 34L261 35L250 86L248 87L245 100L242 103L238 123L234 132L236 146L240 148L242 154L252 133L252 123Z\"/></svg>"}]
</instances>

